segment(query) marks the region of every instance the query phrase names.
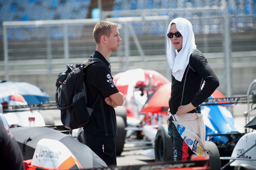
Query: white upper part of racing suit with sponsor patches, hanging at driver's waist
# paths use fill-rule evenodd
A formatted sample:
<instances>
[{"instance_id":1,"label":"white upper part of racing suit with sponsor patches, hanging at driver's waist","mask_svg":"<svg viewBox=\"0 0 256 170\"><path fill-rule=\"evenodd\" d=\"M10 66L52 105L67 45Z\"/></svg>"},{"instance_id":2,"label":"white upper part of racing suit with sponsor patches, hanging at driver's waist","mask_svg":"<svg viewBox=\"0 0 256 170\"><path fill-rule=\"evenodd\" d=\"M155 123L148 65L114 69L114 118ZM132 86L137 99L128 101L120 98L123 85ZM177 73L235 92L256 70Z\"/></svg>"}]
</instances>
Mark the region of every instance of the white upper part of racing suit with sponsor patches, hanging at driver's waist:
<instances>
[{"instance_id":1,"label":"white upper part of racing suit with sponsor patches, hanging at driver's waist","mask_svg":"<svg viewBox=\"0 0 256 170\"><path fill-rule=\"evenodd\" d=\"M198 156L209 156L205 149L205 123L201 113L184 113L180 116L170 114L170 121L189 148Z\"/></svg>"}]
</instances>

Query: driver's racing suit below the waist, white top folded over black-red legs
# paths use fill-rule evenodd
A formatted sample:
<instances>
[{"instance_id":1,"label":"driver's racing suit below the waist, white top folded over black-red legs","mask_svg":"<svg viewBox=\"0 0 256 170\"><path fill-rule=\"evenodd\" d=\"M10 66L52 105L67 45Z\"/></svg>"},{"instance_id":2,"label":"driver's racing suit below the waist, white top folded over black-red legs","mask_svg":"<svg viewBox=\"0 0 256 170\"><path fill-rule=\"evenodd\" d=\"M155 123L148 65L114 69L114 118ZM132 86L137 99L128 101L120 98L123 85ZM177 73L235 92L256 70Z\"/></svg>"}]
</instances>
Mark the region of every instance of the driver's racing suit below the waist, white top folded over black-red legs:
<instances>
[{"instance_id":1,"label":"driver's racing suit below the waist, white top folded over black-red legs","mask_svg":"<svg viewBox=\"0 0 256 170\"><path fill-rule=\"evenodd\" d=\"M205 123L201 113L184 113L180 116L171 115L167 123L172 132L174 161L186 161L190 159L192 154L209 156L205 149Z\"/></svg>"}]
</instances>

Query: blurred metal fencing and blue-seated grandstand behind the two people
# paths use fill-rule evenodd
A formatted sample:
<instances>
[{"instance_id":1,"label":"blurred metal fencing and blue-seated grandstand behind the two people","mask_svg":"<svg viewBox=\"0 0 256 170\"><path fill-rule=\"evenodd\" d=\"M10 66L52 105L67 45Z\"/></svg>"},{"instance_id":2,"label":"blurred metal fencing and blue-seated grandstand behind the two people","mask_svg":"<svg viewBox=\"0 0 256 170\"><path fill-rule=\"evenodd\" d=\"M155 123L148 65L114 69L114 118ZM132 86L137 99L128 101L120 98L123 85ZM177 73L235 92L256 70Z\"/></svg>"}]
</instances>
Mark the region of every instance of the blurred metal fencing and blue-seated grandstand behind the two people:
<instances>
[{"instance_id":1,"label":"blurred metal fencing and blue-seated grandstand behind the two people","mask_svg":"<svg viewBox=\"0 0 256 170\"><path fill-rule=\"evenodd\" d=\"M246 95L256 78L256 0L0 0L0 79L34 84L55 100L66 64L87 61L100 20L119 23L112 75L144 68L169 80L166 32L183 17L219 77L221 93Z\"/></svg>"}]
</instances>

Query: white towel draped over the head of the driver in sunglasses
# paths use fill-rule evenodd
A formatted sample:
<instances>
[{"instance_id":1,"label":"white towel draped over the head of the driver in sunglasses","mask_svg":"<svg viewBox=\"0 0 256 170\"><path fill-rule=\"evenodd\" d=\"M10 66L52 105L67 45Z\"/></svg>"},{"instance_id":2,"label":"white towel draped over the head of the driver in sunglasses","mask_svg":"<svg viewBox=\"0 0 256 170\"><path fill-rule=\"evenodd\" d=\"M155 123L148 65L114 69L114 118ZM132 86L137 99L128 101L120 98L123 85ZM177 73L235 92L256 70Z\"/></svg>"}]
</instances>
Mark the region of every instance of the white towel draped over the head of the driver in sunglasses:
<instances>
[{"instance_id":1,"label":"white towel draped over the head of the driver in sunglasses","mask_svg":"<svg viewBox=\"0 0 256 170\"><path fill-rule=\"evenodd\" d=\"M180 50L178 53L173 47L170 39L167 38L167 61L172 69L172 75L175 77L175 79L181 82L185 69L189 63L189 57L196 49L195 36L193 33L192 24L185 18L173 19L168 26L167 34L170 32L172 23L176 24L177 30L183 36L182 50Z\"/></svg>"}]
</instances>

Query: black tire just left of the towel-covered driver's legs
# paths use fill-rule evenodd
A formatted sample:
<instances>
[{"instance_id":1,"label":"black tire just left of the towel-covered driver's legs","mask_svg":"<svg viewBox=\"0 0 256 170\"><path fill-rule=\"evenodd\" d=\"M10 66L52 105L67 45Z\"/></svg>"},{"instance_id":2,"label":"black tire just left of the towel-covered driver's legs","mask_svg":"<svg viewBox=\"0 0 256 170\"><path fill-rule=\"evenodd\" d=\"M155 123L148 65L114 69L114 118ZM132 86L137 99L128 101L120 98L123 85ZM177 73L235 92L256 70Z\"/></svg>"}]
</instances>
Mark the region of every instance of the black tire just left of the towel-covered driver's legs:
<instances>
[{"instance_id":1,"label":"black tire just left of the towel-covered driver's legs","mask_svg":"<svg viewBox=\"0 0 256 170\"><path fill-rule=\"evenodd\" d=\"M167 124L158 127L155 139L155 160L173 161L173 146Z\"/></svg>"}]
</instances>

